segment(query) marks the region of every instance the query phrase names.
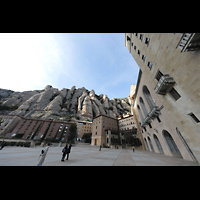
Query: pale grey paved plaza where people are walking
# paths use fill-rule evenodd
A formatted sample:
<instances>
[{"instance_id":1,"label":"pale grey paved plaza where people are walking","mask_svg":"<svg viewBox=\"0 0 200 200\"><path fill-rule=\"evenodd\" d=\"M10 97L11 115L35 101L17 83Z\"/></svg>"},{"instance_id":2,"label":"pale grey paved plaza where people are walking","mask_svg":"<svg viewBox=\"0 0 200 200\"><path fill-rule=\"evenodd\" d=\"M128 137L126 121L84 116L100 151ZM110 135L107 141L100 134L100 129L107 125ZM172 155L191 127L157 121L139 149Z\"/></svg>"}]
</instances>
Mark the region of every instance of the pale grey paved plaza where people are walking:
<instances>
[{"instance_id":1,"label":"pale grey paved plaza where people are walking","mask_svg":"<svg viewBox=\"0 0 200 200\"><path fill-rule=\"evenodd\" d=\"M0 166L36 166L42 147L4 147ZM61 162L63 147L50 147L43 166L199 166L195 162L162 154L127 149L102 148L78 144L69 160Z\"/></svg>"}]
</instances>

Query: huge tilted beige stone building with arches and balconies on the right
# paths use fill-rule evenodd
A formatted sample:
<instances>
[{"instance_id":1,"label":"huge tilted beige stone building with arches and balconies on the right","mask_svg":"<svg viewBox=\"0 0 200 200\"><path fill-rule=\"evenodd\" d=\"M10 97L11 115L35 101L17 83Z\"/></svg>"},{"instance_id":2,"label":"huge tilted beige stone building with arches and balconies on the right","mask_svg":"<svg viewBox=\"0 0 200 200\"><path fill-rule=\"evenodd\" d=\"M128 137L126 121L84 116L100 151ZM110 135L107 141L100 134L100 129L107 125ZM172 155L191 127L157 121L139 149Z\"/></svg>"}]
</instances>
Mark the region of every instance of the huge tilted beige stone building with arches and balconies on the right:
<instances>
[{"instance_id":1,"label":"huge tilted beige stone building with arches and balconies on the right","mask_svg":"<svg viewBox=\"0 0 200 200\"><path fill-rule=\"evenodd\" d=\"M200 162L200 34L126 33L140 67L133 112L149 151Z\"/></svg>"}]
</instances>

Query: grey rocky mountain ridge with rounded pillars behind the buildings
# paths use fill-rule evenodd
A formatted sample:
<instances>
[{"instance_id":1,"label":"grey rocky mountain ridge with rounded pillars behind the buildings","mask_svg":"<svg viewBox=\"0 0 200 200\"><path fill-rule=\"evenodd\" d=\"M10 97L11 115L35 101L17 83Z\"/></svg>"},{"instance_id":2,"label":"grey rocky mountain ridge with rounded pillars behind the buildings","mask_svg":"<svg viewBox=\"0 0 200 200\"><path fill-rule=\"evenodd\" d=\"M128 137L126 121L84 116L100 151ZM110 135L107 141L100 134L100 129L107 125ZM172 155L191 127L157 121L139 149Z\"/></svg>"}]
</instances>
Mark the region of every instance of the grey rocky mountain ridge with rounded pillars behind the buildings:
<instances>
[{"instance_id":1,"label":"grey rocky mountain ridge with rounded pillars behind the buildings","mask_svg":"<svg viewBox=\"0 0 200 200\"><path fill-rule=\"evenodd\" d=\"M128 98L109 99L84 87L58 90L47 85L43 90L14 92L0 89L0 113L40 119L92 121L100 114L117 117L130 114Z\"/></svg>"}]
</instances>

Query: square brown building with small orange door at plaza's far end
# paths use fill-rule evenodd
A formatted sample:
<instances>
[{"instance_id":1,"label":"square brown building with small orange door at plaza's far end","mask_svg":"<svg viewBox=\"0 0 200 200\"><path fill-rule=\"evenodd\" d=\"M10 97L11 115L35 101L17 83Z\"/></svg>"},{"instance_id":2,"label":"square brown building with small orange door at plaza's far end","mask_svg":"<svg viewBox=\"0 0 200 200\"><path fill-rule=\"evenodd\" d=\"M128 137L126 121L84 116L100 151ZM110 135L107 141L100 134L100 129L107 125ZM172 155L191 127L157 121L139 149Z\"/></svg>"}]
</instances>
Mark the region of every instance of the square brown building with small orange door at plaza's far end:
<instances>
[{"instance_id":1,"label":"square brown building with small orange door at plaza's far end","mask_svg":"<svg viewBox=\"0 0 200 200\"><path fill-rule=\"evenodd\" d=\"M105 115L99 115L93 119L91 145L107 145L118 141L117 119Z\"/></svg>"}]
</instances>

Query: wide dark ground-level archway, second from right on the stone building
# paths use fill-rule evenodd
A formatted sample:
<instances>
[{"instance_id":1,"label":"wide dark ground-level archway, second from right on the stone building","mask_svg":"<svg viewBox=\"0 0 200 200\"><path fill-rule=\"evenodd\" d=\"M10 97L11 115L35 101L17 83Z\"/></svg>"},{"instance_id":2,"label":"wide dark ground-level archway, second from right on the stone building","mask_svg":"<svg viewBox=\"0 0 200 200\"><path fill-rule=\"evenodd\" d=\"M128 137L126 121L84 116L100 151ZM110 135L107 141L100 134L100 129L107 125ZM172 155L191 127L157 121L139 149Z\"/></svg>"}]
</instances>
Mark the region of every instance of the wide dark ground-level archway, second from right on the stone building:
<instances>
[{"instance_id":1,"label":"wide dark ground-level archway, second from right on the stone building","mask_svg":"<svg viewBox=\"0 0 200 200\"><path fill-rule=\"evenodd\" d=\"M174 142L174 139L169 134L169 132L166 130L163 130L163 136L164 136L165 141L166 141L171 153L173 154L173 156L182 158L181 153L180 153L176 143Z\"/></svg>"}]
</instances>

